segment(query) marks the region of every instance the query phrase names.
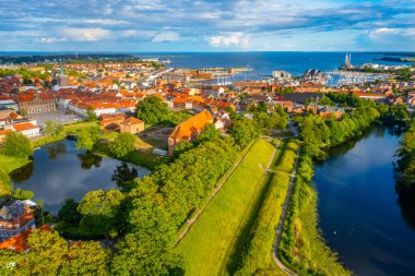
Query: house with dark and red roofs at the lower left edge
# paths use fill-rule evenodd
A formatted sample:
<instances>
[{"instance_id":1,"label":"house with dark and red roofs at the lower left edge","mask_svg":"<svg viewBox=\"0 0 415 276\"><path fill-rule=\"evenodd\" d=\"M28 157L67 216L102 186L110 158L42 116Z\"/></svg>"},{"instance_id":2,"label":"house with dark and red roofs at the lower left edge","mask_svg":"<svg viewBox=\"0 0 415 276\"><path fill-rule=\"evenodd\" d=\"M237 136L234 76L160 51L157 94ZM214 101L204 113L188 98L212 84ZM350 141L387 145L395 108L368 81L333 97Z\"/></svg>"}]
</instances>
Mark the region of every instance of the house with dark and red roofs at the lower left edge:
<instances>
[{"instance_id":1,"label":"house with dark and red roofs at the lower left edge","mask_svg":"<svg viewBox=\"0 0 415 276\"><path fill-rule=\"evenodd\" d=\"M0 242L35 228L34 211L21 201L9 201L0 211Z\"/></svg>"}]
</instances>

